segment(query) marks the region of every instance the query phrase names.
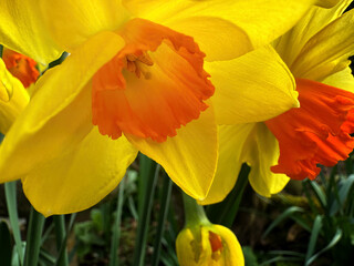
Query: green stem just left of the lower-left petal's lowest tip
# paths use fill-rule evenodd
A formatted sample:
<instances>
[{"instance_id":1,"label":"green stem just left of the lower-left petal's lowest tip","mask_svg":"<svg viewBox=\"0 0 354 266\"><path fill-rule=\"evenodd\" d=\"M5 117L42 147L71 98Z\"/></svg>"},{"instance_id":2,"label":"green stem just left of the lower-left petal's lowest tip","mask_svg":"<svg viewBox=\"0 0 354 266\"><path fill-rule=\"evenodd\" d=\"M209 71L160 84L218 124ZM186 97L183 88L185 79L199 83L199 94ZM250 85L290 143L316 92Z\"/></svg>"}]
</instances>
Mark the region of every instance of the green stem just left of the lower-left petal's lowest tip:
<instances>
[{"instance_id":1,"label":"green stem just left of the lower-left petal's lowest tip","mask_svg":"<svg viewBox=\"0 0 354 266\"><path fill-rule=\"evenodd\" d=\"M24 253L24 266L38 265L41 236L45 218L38 213L33 207L31 208L30 223L27 234L27 247Z\"/></svg>"}]
</instances>

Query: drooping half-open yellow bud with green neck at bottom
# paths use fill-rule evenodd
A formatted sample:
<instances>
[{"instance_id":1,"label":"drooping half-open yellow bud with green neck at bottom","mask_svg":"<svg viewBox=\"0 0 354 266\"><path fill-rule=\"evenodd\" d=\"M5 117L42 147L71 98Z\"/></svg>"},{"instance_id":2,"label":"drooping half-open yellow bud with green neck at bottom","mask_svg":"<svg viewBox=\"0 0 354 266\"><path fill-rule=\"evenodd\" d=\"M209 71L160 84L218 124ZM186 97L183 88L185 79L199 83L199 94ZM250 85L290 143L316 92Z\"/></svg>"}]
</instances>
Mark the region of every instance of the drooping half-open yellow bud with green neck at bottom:
<instances>
[{"instance_id":1,"label":"drooping half-open yellow bud with green neck at bottom","mask_svg":"<svg viewBox=\"0 0 354 266\"><path fill-rule=\"evenodd\" d=\"M211 224L202 207L184 195L186 226L176 239L180 266L243 266L241 246L235 234Z\"/></svg>"}]
</instances>

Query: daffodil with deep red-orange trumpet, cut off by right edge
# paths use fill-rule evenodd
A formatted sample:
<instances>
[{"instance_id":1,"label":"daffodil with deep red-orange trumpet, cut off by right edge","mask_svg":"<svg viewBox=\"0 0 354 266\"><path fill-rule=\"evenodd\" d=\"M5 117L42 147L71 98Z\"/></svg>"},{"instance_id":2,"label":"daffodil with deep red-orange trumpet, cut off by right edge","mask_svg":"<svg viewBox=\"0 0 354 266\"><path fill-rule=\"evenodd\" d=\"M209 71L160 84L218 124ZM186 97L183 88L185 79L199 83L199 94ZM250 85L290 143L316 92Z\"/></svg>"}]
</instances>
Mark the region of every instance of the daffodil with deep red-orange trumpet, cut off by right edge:
<instances>
[{"instance_id":1,"label":"daffodil with deep red-orange trumpet, cut off by right edge","mask_svg":"<svg viewBox=\"0 0 354 266\"><path fill-rule=\"evenodd\" d=\"M270 196L281 191L289 177L313 180L320 173L317 164L333 166L352 152L354 78L347 59L354 54L354 11L343 14L352 1L336 2L331 9L312 8L268 48L278 52L284 69L293 74L299 106L273 117L259 115L257 123L219 127L218 170L204 204L221 201L230 192L243 162L251 166L249 181L254 191ZM257 61L263 65L260 54L262 50L241 58L240 63L248 65L247 74L277 74L254 68ZM226 82L240 85L237 79ZM243 83L248 86L253 81ZM233 93L241 95L238 90ZM228 103L237 104L231 101Z\"/></svg>"}]
</instances>

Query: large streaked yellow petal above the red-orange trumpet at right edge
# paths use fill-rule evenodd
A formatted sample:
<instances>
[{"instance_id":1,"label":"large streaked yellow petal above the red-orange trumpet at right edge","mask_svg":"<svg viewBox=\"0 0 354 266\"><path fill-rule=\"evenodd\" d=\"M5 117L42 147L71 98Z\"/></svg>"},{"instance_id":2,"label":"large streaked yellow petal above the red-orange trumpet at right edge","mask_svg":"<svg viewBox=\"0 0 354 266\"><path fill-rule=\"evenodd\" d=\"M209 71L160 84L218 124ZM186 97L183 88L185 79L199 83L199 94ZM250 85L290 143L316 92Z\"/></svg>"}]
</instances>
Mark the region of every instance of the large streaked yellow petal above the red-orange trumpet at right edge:
<instances>
[{"instance_id":1,"label":"large streaked yellow petal above the red-orange trumpet at right edge","mask_svg":"<svg viewBox=\"0 0 354 266\"><path fill-rule=\"evenodd\" d=\"M354 10L351 10L312 37L291 70L296 78L323 81L345 69L353 52Z\"/></svg>"}]
</instances>

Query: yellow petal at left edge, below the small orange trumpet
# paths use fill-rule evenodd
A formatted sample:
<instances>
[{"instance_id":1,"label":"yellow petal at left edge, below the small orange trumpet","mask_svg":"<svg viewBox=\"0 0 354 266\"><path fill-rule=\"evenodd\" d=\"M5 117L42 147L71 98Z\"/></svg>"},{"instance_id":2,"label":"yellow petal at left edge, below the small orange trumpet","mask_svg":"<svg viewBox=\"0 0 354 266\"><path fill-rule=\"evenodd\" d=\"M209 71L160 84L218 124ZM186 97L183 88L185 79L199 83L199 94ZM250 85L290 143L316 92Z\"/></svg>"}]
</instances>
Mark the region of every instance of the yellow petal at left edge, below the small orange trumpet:
<instances>
[{"instance_id":1,"label":"yellow petal at left edge, below the small orange trumpet","mask_svg":"<svg viewBox=\"0 0 354 266\"><path fill-rule=\"evenodd\" d=\"M0 59L0 132L6 134L30 98L22 83L13 78Z\"/></svg>"}]
</instances>

